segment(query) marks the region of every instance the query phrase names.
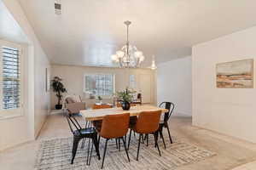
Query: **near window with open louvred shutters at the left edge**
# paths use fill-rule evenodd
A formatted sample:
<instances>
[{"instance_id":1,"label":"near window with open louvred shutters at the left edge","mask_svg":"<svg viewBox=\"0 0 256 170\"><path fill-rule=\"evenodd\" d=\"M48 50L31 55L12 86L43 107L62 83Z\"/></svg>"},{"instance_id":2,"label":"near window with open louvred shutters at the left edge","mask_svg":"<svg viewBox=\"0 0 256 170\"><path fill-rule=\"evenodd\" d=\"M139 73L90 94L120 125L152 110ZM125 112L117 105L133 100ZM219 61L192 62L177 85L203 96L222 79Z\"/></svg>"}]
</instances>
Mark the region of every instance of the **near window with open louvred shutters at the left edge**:
<instances>
[{"instance_id":1,"label":"near window with open louvred shutters at the left edge","mask_svg":"<svg viewBox=\"0 0 256 170\"><path fill-rule=\"evenodd\" d=\"M0 111L20 114L21 75L19 46L0 42Z\"/></svg>"}]
</instances>

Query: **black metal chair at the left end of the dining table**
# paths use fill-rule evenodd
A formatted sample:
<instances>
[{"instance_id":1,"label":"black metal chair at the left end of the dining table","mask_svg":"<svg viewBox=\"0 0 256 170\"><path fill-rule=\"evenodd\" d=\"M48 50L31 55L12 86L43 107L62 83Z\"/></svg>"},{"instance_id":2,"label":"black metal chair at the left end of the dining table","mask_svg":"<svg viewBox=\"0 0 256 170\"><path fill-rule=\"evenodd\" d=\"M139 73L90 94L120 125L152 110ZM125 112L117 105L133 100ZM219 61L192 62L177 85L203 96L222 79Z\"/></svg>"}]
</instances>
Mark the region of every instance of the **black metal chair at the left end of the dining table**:
<instances>
[{"instance_id":1,"label":"black metal chair at the left end of the dining table","mask_svg":"<svg viewBox=\"0 0 256 170\"><path fill-rule=\"evenodd\" d=\"M88 142L88 156L87 156L86 165L90 165L90 157L91 157L91 153L93 150L93 145L96 148L96 155L98 156L98 159L100 160L101 156L100 156L100 151L99 151L99 144L97 142L97 133L96 133L95 127L82 128L79 125L79 122L77 121L77 119L69 111L66 112L66 118L67 118L68 126L70 127L70 130L73 133L73 149L72 149L71 164L73 164L73 160L74 160L77 150L78 150L79 141L81 139L91 139L92 143L93 143L93 144L91 144L91 149L90 149L90 140ZM73 128L75 128L75 130Z\"/></svg>"}]
</instances>

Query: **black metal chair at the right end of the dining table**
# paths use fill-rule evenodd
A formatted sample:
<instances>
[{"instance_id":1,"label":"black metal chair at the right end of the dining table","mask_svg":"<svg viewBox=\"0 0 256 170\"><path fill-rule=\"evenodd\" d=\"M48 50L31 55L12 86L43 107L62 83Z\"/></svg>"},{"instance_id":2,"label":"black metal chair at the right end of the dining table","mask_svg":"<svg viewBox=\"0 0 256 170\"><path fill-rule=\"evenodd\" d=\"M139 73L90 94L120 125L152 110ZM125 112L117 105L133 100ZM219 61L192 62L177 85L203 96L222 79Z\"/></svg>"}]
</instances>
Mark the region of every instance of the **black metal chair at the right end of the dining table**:
<instances>
[{"instance_id":1,"label":"black metal chair at the right end of the dining table","mask_svg":"<svg viewBox=\"0 0 256 170\"><path fill-rule=\"evenodd\" d=\"M172 102L166 102L165 101L165 102L162 102L159 105L159 107L164 107L166 110L168 110L167 112L165 112L164 120L160 121L160 126L159 126L160 138L163 140L164 146L166 148L166 143L165 143L165 139L164 139L164 135L163 135L163 128L167 129L169 139L170 139L170 142L172 144L172 136L171 136L171 133L170 133L170 128L169 128L169 125L168 125L168 121L169 121L170 117L172 116L172 112L174 110L175 105ZM158 137L158 135L157 135L157 137Z\"/></svg>"}]
</instances>

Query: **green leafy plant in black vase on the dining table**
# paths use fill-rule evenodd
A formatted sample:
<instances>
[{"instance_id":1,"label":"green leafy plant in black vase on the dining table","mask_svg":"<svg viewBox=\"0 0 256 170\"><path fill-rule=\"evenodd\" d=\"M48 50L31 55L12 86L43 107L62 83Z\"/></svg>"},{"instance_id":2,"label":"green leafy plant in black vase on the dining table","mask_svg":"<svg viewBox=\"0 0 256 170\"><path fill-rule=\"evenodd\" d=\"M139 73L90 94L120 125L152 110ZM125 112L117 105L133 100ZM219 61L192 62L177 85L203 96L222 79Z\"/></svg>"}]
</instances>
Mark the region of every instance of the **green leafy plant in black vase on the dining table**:
<instances>
[{"instance_id":1,"label":"green leafy plant in black vase on the dining table","mask_svg":"<svg viewBox=\"0 0 256 170\"><path fill-rule=\"evenodd\" d=\"M131 107L131 100L133 98L133 94L135 94L136 91L129 90L128 88L125 89L125 91L117 92L116 96L121 101L121 105L124 111L129 111Z\"/></svg>"}]
</instances>

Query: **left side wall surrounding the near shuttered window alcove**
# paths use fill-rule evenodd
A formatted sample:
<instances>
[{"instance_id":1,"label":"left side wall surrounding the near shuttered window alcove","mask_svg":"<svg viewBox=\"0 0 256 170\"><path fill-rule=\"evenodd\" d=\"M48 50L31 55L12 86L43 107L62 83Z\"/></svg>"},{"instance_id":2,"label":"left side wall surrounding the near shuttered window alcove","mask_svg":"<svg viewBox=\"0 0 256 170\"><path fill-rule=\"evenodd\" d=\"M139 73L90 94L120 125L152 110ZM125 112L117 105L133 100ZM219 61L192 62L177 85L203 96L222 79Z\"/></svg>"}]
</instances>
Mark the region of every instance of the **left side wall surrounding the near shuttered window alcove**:
<instances>
[{"instance_id":1,"label":"left side wall surrounding the near shuttered window alcove","mask_svg":"<svg viewBox=\"0 0 256 170\"><path fill-rule=\"evenodd\" d=\"M26 44L26 94L24 96L26 108L23 116L0 121L1 138L3 137L0 150L35 139L38 129L42 127L49 112L49 92L46 93L43 87L45 67L50 67L20 4L15 0L3 0L3 3L24 31L29 42Z\"/></svg>"}]
</instances>

